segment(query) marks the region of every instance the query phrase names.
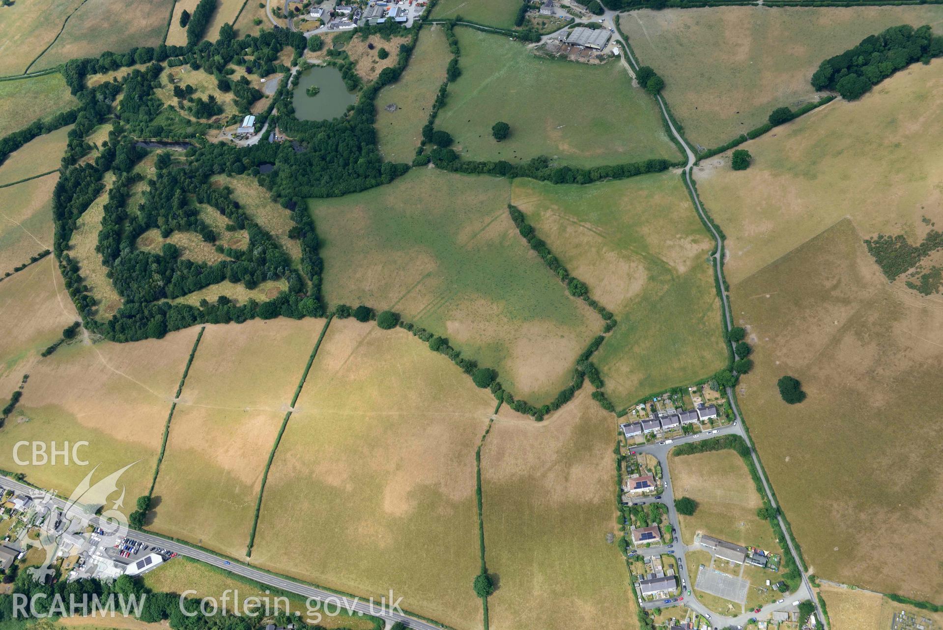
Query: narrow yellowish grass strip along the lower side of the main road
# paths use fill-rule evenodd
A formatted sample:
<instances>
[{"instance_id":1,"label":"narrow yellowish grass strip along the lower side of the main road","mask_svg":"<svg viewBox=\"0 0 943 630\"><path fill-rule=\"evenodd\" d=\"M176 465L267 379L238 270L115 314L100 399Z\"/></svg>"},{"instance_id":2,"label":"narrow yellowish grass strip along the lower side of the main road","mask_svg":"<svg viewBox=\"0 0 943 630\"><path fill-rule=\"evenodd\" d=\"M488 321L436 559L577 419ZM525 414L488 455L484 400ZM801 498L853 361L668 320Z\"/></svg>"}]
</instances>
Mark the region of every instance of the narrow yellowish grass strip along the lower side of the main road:
<instances>
[{"instance_id":1,"label":"narrow yellowish grass strip along the lower side of the main road","mask_svg":"<svg viewBox=\"0 0 943 630\"><path fill-rule=\"evenodd\" d=\"M261 607L269 605L270 609L279 606L285 610L285 603L281 595L275 595L270 589L258 589L248 582L243 582L216 567L210 567L202 562L196 562L186 557L180 557L173 562L165 562L154 571L143 575L144 586L157 592L179 593L183 590L195 590L188 597L214 597L218 602L228 597L230 612L233 610L233 601L239 600L240 610L248 598L257 597L262 602ZM227 592L228 591L228 592ZM306 599L300 595L289 598L288 608L291 612L300 612L306 615ZM261 608L260 608L261 609ZM333 610L333 609L332 609ZM373 623L367 619L352 618L346 615L338 617L323 616L316 620L313 616L307 618L311 623L318 623L324 628L349 628L350 630L372 630Z\"/></svg>"}]
</instances>

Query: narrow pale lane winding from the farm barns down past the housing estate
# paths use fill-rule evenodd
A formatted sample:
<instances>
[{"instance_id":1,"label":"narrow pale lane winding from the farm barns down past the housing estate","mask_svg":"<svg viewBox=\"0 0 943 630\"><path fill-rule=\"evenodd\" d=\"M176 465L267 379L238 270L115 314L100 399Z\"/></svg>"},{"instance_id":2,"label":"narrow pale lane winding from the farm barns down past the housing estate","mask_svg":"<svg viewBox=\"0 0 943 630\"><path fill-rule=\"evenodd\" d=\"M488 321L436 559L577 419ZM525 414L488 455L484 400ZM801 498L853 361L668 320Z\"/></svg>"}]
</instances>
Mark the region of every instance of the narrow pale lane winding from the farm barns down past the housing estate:
<instances>
[{"instance_id":1,"label":"narrow pale lane winding from the farm barns down past the housing estate","mask_svg":"<svg viewBox=\"0 0 943 630\"><path fill-rule=\"evenodd\" d=\"M615 11L605 11L604 19L615 22L614 16L618 15ZM622 48L625 51L626 58L629 59L629 63L635 69L638 68L637 59L632 54L632 49L629 48L628 43L622 38L620 29L616 29L613 32L613 37L617 41L620 41ZM730 314L730 298L727 294L726 283L723 278L723 240L720 237L720 232L717 227L711 221L710 217L707 216L707 213L704 211L703 205L701 203L701 198L698 196L698 191L694 187L694 178L691 175L691 170L694 167L694 164L697 162L697 156L694 152L691 151L691 147L687 145L684 136L682 136L678 130L675 128L674 123L671 122L671 117L668 114L668 108L665 105L665 99L661 94L657 94L655 99L658 101L658 107L661 109L661 114L665 119L665 123L668 124L668 127L671 131L671 135L674 136L675 141L684 148L685 154L687 155L687 165L685 166L684 175L685 175L685 185L687 186L687 191L690 193L691 200L694 205L694 209L697 211L698 216L701 217L703 224L707 225L710 229L711 234L714 237L717 247L714 250L714 254L711 256L714 259L714 271L717 275L718 282L718 292L720 293L720 304L723 307L723 321L729 330L733 327L733 318ZM731 347L734 346L734 343L730 342ZM734 410L734 415L736 421L740 423L741 431L739 433L743 436L743 439L746 440L747 445L750 447L750 456L753 459L753 465L756 467L757 473L759 473L760 481L763 482L763 489L766 491L767 498L769 499L769 505L776 509L776 519L779 522L780 528L783 530L783 534L786 537L786 544L789 547L789 553L796 559L796 564L799 565L800 573L802 574L802 585L805 590L810 593L812 604L816 607L816 613L819 616L819 620L822 623L822 627L825 630L828 628L828 618L823 614L821 605L819 605L819 600L814 596L815 591L812 589L812 585L809 584L808 575L806 575L804 569L802 568L802 556L798 552L798 543L793 539L792 530L789 528L788 523L783 518L782 510L779 508L779 503L776 501L775 494L773 494L772 487L769 485L769 480L767 479L766 470L763 468L763 465L760 463L760 458L756 453L756 448L753 445L753 439L750 437L749 431L746 429L746 424L743 422L743 417L740 414L739 406L736 403L736 392L733 388L727 388L727 399L731 402L731 408Z\"/></svg>"}]
</instances>

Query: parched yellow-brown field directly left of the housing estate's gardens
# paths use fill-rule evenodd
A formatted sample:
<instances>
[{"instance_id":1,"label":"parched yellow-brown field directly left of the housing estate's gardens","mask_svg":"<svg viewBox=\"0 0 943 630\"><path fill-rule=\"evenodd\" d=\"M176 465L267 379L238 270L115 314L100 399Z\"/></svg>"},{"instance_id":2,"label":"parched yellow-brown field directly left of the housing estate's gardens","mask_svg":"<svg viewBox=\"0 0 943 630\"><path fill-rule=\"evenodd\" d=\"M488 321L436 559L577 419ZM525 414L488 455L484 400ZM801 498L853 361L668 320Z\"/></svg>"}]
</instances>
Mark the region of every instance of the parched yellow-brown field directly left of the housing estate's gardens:
<instances>
[{"instance_id":1,"label":"parched yellow-brown field directly left of the housing estate's gardens","mask_svg":"<svg viewBox=\"0 0 943 630\"><path fill-rule=\"evenodd\" d=\"M605 541L618 535L614 429L587 390L543 423L492 426L481 472L493 630L638 627L625 561Z\"/></svg>"}]
</instances>

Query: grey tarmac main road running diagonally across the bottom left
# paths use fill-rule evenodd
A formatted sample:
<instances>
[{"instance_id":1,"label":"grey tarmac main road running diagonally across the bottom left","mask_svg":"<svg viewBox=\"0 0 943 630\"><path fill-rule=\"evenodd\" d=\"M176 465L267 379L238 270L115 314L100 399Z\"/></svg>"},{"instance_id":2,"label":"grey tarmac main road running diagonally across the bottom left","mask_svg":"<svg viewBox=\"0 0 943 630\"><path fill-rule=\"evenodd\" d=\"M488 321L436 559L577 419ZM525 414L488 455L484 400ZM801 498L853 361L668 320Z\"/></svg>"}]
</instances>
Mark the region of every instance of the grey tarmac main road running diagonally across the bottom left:
<instances>
[{"instance_id":1,"label":"grey tarmac main road running diagonally across the bottom left","mask_svg":"<svg viewBox=\"0 0 943 630\"><path fill-rule=\"evenodd\" d=\"M14 489L20 492L36 492L36 489L32 486L28 486L24 483L16 481L6 475L0 475L0 485L7 489ZM58 507L65 507L67 502L61 498L54 498L52 500L53 504ZM329 602L330 609L334 609L335 605L339 605L341 609L345 610L354 610L356 612L361 612L367 615L373 615L374 617L379 617L387 621L387 625L393 622L403 622L406 626L410 628L420 628L422 630L440 630L441 626L425 622L422 619L417 619L411 617L405 613L399 612L395 607L391 606L389 602L381 603L371 603L369 600L364 601L359 598L348 598L336 593L332 593L329 590L318 589L316 587L311 587L302 582L296 580L291 580L274 573L260 571L249 565L240 563L237 560L227 559L222 555L211 554L207 551L199 549L198 547L193 547L188 544L178 542L172 539L166 539L162 536L157 536L156 534L151 534L150 532L141 532L136 530L128 530L128 536L135 540L141 540L149 545L157 545L168 551L176 552L178 555L186 555L187 557L200 560L201 562L206 562L211 564L214 567L219 567L224 571L236 573L243 577L255 580L261 584L274 587L276 589L287 590L291 593L296 593L302 595L306 598L313 598L323 602ZM186 585L181 585L182 589L186 589ZM471 588L471 587L470 587ZM323 610L323 605L322 605Z\"/></svg>"}]
</instances>

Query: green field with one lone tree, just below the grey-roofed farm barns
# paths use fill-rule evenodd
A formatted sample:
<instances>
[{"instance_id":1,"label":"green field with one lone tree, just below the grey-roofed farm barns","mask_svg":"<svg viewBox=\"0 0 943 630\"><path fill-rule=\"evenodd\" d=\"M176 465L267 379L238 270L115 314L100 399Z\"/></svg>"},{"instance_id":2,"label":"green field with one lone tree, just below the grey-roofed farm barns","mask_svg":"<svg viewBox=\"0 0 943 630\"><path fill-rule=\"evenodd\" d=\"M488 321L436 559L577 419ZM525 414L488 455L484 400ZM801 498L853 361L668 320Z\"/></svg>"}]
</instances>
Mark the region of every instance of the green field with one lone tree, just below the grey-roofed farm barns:
<instances>
[{"instance_id":1,"label":"green field with one lone tree, just below the grey-roofed farm barns","mask_svg":"<svg viewBox=\"0 0 943 630\"><path fill-rule=\"evenodd\" d=\"M462 75L449 85L436 126L455 137L464 157L547 156L585 167L680 157L653 98L632 87L618 61L587 66L537 57L502 35L471 28L455 35ZM501 142L491 137L498 121L511 125Z\"/></svg>"}]
</instances>

